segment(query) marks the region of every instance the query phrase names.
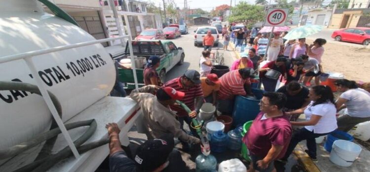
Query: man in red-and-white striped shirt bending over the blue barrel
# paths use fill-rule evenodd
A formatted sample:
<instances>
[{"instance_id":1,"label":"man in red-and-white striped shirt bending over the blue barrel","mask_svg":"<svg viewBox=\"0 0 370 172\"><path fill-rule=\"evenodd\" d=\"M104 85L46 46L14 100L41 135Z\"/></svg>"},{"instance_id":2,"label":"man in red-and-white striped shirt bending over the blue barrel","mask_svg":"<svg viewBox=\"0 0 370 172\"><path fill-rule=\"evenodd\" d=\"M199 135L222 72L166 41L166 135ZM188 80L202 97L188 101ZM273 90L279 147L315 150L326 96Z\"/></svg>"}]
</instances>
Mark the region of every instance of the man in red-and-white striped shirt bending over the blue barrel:
<instances>
[{"instance_id":1,"label":"man in red-and-white striped shirt bending over the blue barrel","mask_svg":"<svg viewBox=\"0 0 370 172\"><path fill-rule=\"evenodd\" d=\"M251 77L254 70L246 67L225 73L220 78L221 88L218 91L217 110L224 115L231 115L235 95L252 94ZM247 90L247 92L246 92Z\"/></svg>"}]
</instances>

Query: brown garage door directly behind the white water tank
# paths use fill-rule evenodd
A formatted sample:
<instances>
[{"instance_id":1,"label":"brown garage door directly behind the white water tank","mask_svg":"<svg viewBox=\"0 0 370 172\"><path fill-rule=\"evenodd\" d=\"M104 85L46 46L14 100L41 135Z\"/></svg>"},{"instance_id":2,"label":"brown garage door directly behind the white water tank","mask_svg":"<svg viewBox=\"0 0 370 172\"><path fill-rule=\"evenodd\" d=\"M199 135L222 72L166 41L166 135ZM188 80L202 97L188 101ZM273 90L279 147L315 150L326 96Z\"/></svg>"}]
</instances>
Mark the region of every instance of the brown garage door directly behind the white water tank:
<instances>
[{"instance_id":1,"label":"brown garage door directly behind the white water tank","mask_svg":"<svg viewBox=\"0 0 370 172\"><path fill-rule=\"evenodd\" d=\"M78 25L90 33L95 39L104 39L106 34L104 32L103 24L100 21L98 11L89 11L81 13L70 13ZM108 46L108 42L103 42L104 47Z\"/></svg>"}]
</instances>

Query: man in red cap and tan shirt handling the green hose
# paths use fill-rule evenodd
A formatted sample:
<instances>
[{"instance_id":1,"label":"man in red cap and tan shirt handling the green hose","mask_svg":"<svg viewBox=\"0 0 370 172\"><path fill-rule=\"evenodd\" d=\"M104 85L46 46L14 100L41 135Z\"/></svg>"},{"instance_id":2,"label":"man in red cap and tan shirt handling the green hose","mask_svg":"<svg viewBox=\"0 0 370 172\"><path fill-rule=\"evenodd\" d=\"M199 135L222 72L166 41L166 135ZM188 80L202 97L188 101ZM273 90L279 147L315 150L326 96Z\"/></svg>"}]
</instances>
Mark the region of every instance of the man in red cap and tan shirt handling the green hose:
<instances>
[{"instance_id":1,"label":"man in red cap and tan shirt handling the green hose","mask_svg":"<svg viewBox=\"0 0 370 172\"><path fill-rule=\"evenodd\" d=\"M156 94L156 95L154 95ZM188 135L176 120L176 112L170 109L176 100L183 100L185 93L171 87L143 86L132 90L130 97L139 103L143 112L143 128L148 139L157 139L160 136L172 133L179 140L186 143L200 143L196 137Z\"/></svg>"}]
</instances>

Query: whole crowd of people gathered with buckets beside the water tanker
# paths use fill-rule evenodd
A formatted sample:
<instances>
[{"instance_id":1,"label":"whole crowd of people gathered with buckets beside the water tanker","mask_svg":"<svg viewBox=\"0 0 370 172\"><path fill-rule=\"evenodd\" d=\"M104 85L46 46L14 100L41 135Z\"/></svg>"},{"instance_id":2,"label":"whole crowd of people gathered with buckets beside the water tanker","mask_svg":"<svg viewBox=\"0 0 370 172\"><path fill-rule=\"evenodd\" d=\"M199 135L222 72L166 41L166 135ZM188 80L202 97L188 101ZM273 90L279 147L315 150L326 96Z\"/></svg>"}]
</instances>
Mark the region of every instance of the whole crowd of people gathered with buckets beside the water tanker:
<instances>
[{"instance_id":1,"label":"whole crowd of people gathered with buckets beside the water tanker","mask_svg":"<svg viewBox=\"0 0 370 172\"><path fill-rule=\"evenodd\" d=\"M240 29L231 35L226 26L223 30L224 41L228 43L234 37L237 45L246 41L245 34L254 36L254 40L248 39L248 44L253 46L262 36L257 29L248 33ZM149 57L144 70L146 86L130 94L143 111L148 141L139 147L140 151L132 161L117 146L119 129L116 124L108 124L112 171L142 169L160 172L168 171L174 164L178 166L177 171L182 171L184 162L179 158L179 153L173 150L173 137L180 140L185 151L191 144L200 143L192 127L189 127L190 132L185 131L184 122L191 126L192 118L197 116L204 102L215 105L222 115L231 115L235 96L253 96L252 83L257 81L256 78L259 78L266 92L259 102L260 113L243 138L252 161L250 172L276 171L274 162L286 163L296 145L303 140L306 140L308 148L305 152L313 161L317 161L315 138L335 130L347 132L356 124L370 120L370 93L359 88L354 81L340 79L335 82L337 90L343 92L337 100L334 100L331 87L320 85L318 76L322 72L321 57L325 39L319 38L307 45L304 38L283 40L280 33L274 33L268 45L266 61L256 54L255 48L251 48L248 53L242 53L241 59L235 60L230 71L220 78L211 73L211 41L204 41L199 72L187 70L167 83L161 83L155 70L159 66L159 57ZM227 49L227 44L224 48ZM267 77L269 70L278 71L281 77ZM314 77L315 86L311 87L309 83ZM277 86L279 80L285 85ZM191 113L179 106L176 100L185 103ZM348 109L348 115L337 117L337 112L344 108ZM305 115L306 120L296 121L301 114ZM294 132L292 126L303 128ZM170 139L162 139L168 135L171 135ZM162 149L163 154L157 153ZM171 162L170 156L177 158ZM158 162L148 165L148 158L157 159Z\"/></svg>"}]
</instances>

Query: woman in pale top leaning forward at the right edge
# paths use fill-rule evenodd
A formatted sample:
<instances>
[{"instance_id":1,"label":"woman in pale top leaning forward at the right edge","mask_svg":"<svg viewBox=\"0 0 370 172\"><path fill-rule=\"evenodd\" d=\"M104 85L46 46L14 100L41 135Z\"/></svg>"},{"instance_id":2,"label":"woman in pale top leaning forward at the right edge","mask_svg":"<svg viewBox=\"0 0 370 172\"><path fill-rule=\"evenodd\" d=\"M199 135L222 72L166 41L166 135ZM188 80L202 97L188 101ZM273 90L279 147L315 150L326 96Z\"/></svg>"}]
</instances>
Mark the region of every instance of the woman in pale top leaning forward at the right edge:
<instances>
[{"instance_id":1,"label":"woman in pale top leaning forward at the right edge","mask_svg":"<svg viewBox=\"0 0 370 172\"><path fill-rule=\"evenodd\" d=\"M370 93L359 88L355 81L340 79L334 85L338 91L343 92L336 101L336 109L348 109L348 115L338 118L338 130L347 132L358 123L369 121Z\"/></svg>"}]
</instances>

